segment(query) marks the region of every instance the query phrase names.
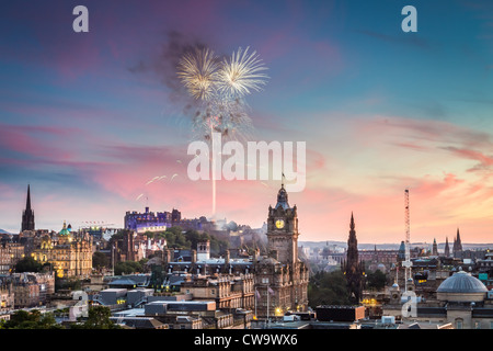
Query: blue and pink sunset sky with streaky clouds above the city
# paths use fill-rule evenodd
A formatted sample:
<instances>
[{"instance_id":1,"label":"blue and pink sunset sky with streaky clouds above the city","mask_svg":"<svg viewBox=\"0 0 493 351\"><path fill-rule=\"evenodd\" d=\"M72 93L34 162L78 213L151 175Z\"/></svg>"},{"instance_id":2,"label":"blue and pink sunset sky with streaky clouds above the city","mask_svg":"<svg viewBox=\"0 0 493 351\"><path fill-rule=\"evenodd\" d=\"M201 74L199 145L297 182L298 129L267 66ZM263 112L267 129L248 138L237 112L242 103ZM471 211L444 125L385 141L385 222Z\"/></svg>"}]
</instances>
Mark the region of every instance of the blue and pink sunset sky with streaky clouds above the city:
<instances>
[{"instance_id":1,"label":"blue and pink sunset sky with streaky clouds above the city","mask_svg":"<svg viewBox=\"0 0 493 351\"><path fill-rule=\"evenodd\" d=\"M89 32L76 33L76 5ZM417 32L403 32L404 5ZM493 242L490 1L9 1L0 8L0 228L123 227L126 211L213 216L192 181L176 57L256 50L252 140L305 141L299 240ZM156 177L159 181L149 183ZM174 176L174 177L173 177ZM220 180L216 218L261 227L279 181Z\"/></svg>"}]
</instances>

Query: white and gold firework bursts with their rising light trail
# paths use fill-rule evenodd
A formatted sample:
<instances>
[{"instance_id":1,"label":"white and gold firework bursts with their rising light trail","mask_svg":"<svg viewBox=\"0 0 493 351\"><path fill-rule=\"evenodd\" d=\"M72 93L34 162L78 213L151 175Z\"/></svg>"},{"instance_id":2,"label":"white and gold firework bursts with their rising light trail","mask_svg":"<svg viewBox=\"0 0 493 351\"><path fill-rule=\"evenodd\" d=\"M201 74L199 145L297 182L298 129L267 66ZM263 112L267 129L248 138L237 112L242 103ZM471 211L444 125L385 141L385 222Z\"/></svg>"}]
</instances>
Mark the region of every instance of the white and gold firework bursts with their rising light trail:
<instances>
[{"instance_id":1,"label":"white and gold firework bursts with their rising light trail","mask_svg":"<svg viewBox=\"0 0 493 351\"><path fill-rule=\"evenodd\" d=\"M245 141L253 131L244 100L262 90L268 78L256 52L241 47L220 60L203 48L185 54L179 61L177 76L188 93L200 102L192 118L194 138L211 143L213 133L229 140ZM216 174L213 160L213 217L216 215Z\"/></svg>"}]
</instances>

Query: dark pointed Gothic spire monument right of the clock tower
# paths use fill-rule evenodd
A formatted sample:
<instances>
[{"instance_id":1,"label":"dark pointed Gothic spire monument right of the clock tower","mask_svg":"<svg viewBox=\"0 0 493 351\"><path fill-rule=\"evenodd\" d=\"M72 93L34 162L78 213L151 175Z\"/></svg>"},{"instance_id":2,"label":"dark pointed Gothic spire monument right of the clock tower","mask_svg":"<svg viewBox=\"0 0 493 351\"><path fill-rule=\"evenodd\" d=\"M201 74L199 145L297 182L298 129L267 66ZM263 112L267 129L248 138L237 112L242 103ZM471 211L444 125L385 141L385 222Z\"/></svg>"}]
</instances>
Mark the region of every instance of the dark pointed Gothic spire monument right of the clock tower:
<instances>
[{"instance_id":1,"label":"dark pointed Gothic spire monument right of the clock tower","mask_svg":"<svg viewBox=\"0 0 493 351\"><path fill-rule=\"evenodd\" d=\"M347 238L347 257L344 263L344 274L346 276L349 301L358 304L363 294L363 273L364 267L358 258L358 240L353 213L351 213L349 237Z\"/></svg>"}]
</instances>

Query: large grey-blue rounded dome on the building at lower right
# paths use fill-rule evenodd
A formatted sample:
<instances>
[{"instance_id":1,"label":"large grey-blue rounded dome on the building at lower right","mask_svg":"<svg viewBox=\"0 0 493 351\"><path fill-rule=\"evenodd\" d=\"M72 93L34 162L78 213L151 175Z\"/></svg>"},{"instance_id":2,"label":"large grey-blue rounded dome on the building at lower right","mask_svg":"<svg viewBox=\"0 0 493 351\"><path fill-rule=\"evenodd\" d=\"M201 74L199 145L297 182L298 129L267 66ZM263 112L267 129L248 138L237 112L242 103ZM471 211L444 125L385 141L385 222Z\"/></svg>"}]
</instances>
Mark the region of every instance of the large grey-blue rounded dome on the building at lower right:
<instances>
[{"instance_id":1,"label":"large grey-blue rounded dome on the building at lower right","mask_svg":"<svg viewBox=\"0 0 493 351\"><path fill-rule=\"evenodd\" d=\"M481 302L486 292L486 286L479 279L465 271L447 278L436 291L438 299L457 302Z\"/></svg>"}]
</instances>

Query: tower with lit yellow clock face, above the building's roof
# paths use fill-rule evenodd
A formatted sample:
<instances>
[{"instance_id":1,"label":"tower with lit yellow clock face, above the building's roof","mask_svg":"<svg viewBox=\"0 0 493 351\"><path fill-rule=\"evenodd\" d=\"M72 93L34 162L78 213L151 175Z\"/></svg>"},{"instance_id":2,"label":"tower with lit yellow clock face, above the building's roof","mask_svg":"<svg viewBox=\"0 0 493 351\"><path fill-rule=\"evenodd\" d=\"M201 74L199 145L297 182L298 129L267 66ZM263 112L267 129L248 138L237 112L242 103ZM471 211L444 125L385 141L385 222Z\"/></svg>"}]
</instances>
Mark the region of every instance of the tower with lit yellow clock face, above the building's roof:
<instances>
[{"instance_id":1,"label":"tower with lit yellow clock face, above the building's roof","mask_svg":"<svg viewBox=\"0 0 493 351\"><path fill-rule=\"evenodd\" d=\"M284 184L277 193L277 204L268 206L267 249L268 256L280 263L293 264L298 261L298 214L296 205L289 206Z\"/></svg>"}]
</instances>

